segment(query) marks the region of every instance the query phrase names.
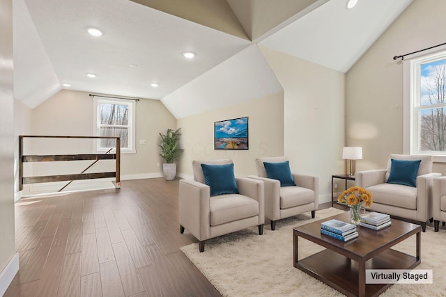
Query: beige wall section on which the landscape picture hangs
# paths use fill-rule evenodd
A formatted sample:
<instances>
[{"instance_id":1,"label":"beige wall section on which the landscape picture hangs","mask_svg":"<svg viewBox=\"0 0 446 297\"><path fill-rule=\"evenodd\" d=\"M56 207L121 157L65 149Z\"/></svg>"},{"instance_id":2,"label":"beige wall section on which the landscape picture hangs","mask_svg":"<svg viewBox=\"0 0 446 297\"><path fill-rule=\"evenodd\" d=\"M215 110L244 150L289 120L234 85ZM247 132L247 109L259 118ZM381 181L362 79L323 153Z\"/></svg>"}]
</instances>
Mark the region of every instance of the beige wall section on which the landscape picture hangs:
<instances>
[{"instance_id":1,"label":"beige wall section on which the landscape picture hangs","mask_svg":"<svg viewBox=\"0 0 446 297\"><path fill-rule=\"evenodd\" d=\"M181 177L192 178L192 161L232 159L237 176L255 175L259 156L284 154L284 94L276 93L178 119L183 153L178 160ZM249 117L249 150L214 150L214 122Z\"/></svg>"}]
</instances>

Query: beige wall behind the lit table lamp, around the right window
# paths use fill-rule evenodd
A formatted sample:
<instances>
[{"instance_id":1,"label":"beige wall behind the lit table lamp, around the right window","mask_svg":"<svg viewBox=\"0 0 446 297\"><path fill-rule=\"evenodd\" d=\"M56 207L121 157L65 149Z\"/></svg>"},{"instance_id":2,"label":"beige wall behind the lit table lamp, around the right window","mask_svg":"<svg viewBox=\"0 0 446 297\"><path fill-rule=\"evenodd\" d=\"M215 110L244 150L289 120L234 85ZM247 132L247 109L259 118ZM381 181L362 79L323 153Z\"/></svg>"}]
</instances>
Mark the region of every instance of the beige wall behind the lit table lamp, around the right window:
<instances>
[{"instance_id":1,"label":"beige wall behind the lit table lamp, around the right window","mask_svg":"<svg viewBox=\"0 0 446 297\"><path fill-rule=\"evenodd\" d=\"M403 153L403 65L392 58L445 42L446 1L415 0L346 74L346 144L363 147L357 170ZM446 166L434 164L446 174Z\"/></svg>"}]
</instances>

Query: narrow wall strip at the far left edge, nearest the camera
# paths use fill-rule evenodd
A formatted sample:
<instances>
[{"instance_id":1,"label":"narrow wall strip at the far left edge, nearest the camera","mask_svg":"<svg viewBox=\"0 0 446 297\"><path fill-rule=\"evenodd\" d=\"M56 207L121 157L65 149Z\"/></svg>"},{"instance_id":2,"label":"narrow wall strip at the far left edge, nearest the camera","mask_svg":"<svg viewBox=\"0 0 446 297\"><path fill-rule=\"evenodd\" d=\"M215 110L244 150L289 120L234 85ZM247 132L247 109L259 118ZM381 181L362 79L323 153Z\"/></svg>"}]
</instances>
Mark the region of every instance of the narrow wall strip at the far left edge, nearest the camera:
<instances>
[{"instance_id":1,"label":"narrow wall strip at the far left edge, nearest the camera","mask_svg":"<svg viewBox=\"0 0 446 297\"><path fill-rule=\"evenodd\" d=\"M9 264L15 255L14 239L14 99L13 9L11 0L0 0L0 295L17 272Z\"/></svg>"}]
</instances>

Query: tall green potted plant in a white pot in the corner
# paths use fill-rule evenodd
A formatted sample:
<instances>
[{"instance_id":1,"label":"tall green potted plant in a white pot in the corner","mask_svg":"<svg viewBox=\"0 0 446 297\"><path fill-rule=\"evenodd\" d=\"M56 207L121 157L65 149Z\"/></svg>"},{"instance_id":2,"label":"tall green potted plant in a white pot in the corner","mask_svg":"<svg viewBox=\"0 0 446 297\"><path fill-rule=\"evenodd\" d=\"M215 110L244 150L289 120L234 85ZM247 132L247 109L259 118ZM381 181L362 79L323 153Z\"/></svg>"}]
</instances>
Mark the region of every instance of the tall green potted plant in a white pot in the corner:
<instances>
[{"instance_id":1,"label":"tall green potted plant in a white pot in the corner","mask_svg":"<svg viewBox=\"0 0 446 297\"><path fill-rule=\"evenodd\" d=\"M167 129L166 134L160 133L160 156L166 163L162 164L162 173L166 180L172 180L176 176L176 159L180 155L180 132L181 128L176 130Z\"/></svg>"}]
</instances>

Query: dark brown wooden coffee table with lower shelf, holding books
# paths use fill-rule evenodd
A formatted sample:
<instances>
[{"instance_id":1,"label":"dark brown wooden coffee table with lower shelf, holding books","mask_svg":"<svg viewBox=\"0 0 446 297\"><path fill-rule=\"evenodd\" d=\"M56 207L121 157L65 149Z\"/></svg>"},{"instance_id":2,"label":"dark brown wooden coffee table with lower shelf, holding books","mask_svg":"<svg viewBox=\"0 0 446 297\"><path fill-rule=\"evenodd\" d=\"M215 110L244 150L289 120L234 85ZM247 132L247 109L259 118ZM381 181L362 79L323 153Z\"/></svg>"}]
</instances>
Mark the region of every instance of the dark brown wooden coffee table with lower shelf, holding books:
<instances>
[{"instance_id":1,"label":"dark brown wooden coffee table with lower shelf, holding books","mask_svg":"<svg viewBox=\"0 0 446 297\"><path fill-rule=\"evenodd\" d=\"M293 228L294 267L321 280L346 296L378 296L392 284L366 284L366 269L412 269L421 263L421 226L392 219L382 230L357 227L359 237L340 241L321 234L321 223L336 218L350 222L350 213L339 214ZM391 247L416 234L416 255ZM305 259L298 259L298 238L302 237L325 250ZM352 261L353 260L353 261Z\"/></svg>"}]
</instances>

